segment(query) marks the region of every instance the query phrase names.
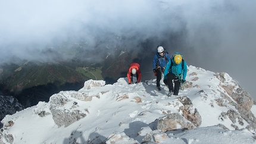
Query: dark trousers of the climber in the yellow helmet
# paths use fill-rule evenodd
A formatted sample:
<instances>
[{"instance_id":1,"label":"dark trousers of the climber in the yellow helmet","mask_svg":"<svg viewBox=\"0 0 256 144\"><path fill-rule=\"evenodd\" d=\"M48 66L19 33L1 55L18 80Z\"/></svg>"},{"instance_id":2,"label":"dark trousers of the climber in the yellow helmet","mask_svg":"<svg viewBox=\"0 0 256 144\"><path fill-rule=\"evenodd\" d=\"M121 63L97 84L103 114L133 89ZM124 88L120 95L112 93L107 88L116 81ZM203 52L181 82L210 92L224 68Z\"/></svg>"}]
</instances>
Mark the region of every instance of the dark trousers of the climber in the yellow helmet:
<instances>
[{"instance_id":1,"label":"dark trousers of the climber in the yellow helmet","mask_svg":"<svg viewBox=\"0 0 256 144\"><path fill-rule=\"evenodd\" d=\"M174 80L174 89L173 89L173 80ZM168 83L169 91L173 90L173 95L178 95L179 89L180 89L179 78L176 77L175 74L170 72L167 74L167 83Z\"/></svg>"}]
</instances>

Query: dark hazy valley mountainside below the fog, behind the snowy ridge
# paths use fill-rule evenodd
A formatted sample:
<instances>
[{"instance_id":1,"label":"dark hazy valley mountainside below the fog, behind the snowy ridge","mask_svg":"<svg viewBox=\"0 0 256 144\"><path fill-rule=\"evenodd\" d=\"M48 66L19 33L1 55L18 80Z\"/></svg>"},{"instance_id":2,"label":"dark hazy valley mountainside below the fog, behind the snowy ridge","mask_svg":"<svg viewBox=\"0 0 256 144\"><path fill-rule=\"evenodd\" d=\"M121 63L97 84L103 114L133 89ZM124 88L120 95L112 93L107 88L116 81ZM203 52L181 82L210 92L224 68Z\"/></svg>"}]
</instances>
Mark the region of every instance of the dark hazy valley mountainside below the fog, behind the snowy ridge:
<instances>
[{"instance_id":1,"label":"dark hazy valley mountainside below the fog, behind the snowy ridge","mask_svg":"<svg viewBox=\"0 0 256 144\"><path fill-rule=\"evenodd\" d=\"M114 83L120 77L125 77L127 70L132 62L141 62L136 60L138 53L136 51L123 51L115 49L112 53L104 54L105 58L96 58L92 62L82 61L81 57L87 55L82 50L84 43L80 45L71 45L68 48L74 48L77 53L76 60L59 62L40 62L40 61L21 61L18 64L5 64L0 67L0 94L12 95L25 107L31 107L38 104L39 101L49 101L49 97L61 90L78 90L83 86L86 80L92 79L84 68L92 69L100 67L98 73L101 79L107 83ZM54 55L61 54L55 51L45 53ZM60 51L61 53L62 51ZM69 51L68 51L69 52ZM74 54L76 54L73 52ZM58 53L58 54L56 54ZM65 52L67 53L67 52ZM72 54L73 54L72 53ZM93 54L93 52L90 52ZM52 54L53 55L53 54ZM107 57L106 57L107 56ZM97 55L95 55L97 57ZM61 60L61 58L57 58ZM101 62L98 62L99 60ZM96 63L94 63L96 62ZM88 73L88 74L86 74Z\"/></svg>"}]
</instances>

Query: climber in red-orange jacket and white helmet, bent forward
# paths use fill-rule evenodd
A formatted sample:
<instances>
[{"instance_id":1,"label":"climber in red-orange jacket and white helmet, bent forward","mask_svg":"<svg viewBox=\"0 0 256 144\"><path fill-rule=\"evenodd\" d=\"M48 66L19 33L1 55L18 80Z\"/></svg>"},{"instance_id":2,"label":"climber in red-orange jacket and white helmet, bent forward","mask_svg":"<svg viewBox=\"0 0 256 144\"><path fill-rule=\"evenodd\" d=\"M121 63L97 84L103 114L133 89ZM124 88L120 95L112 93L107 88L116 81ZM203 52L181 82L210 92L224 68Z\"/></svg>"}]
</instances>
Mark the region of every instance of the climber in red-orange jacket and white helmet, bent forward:
<instances>
[{"instance_id":1,"label":"climber in red-orange jacket and white helmet, bent forward","mask_svg":"<svg viewBox=\"0 0 256 144\"><path fill-rule=\"evenodd\" d=\"M133 79L131 79L131 77L133 77L133 74L136 74L136 77L137 77L136 83L139 83L141 81L141 70L139 69L139 64L135 62L130 64L129 71L127 72L127 78L128 78L129 84L133 83Z\"/></svg>"}]
</instances>

